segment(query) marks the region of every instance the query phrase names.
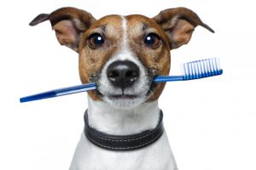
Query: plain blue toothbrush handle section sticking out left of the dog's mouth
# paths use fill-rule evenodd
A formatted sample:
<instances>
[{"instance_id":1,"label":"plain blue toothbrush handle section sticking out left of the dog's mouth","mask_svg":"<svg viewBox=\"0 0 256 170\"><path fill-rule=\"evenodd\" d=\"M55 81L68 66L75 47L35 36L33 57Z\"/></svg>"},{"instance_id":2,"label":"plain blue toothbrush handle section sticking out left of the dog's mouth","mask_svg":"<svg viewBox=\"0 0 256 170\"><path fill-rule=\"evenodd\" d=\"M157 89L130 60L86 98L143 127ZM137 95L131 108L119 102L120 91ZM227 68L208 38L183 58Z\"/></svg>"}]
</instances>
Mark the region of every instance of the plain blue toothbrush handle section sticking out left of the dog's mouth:
<instances>
[{"instance_id":1,"label":"plain blue toothbrush handle section sticking out left of the dog's mouth","mask_svg":"<svg viewBox=\"0 0 256 170\"><path fill-rule=\"evenodd\" d=\"M82 84L79 86L73 86L69 88L59 88L59 89L51 90L41 94L26 96L26 97L20 98L20 103L38 100L38 99L54 98L54 97L67 95L67 94L76 94L76 93L85 92L88 90L95 90L95 89L96 89L96 83L90 82L90 83Z\"/></svg>"}]
</instances>

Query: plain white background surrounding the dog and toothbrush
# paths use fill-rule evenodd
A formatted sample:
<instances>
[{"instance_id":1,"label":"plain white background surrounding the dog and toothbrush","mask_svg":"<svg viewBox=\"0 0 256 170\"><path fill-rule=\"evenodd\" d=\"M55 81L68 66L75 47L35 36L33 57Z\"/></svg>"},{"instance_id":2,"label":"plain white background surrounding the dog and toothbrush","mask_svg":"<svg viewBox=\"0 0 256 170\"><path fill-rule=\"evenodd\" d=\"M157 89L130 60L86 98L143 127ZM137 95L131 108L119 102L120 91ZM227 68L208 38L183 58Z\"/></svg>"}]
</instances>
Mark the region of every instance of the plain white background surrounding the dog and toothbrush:
<instances>
[{"instance_id":1,"label":"plain white background surrounding the dog and toothbrush","mask_svg":"<svg viewBox=\"0 0 256 170\"><path fill-rule=\"evenodd\" d=\"M79 141L86 94L20 104L19 98L79 84L78 54L61 47L49 22L30 27L38 14L83 8L107 14L144 14L183 6L215 34L198 26L188 45L172 51L179 64L219 57L224 75L168 82L160 97L165 126L180 170L255 170L255 3L204 0L2 1L0 50L0 169L68 169Z\"/></svg>"}]
</instances>

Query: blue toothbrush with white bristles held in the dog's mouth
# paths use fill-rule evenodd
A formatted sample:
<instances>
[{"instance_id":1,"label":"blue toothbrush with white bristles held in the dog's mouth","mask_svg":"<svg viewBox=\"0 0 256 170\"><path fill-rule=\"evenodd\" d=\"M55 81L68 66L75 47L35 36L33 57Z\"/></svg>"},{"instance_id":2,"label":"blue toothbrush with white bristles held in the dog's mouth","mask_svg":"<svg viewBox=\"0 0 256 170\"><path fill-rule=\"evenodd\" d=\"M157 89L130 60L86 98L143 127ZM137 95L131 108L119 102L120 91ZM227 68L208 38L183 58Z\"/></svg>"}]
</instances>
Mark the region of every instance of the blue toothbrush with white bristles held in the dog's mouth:
<instances>
[{"instance_id":1,"label":"blue toothbrush with white bristles held in the dog's mouth","mask_svg":"<svg viewBox=\"0 0 256 170\"><path fill-rule=\"evenodd\" d=\"M186 81L186 80L195 80L205 77L218 76L223 73L223 70L220 68L218 58L212 59L201 59L192 61L189 63L183 64L183 75L182 76L156 76L153 79L153 82L176 82L176 81ZM82 84L79 86L73 86L69 88L59 88L44 92L41 94L34 94L31 96L26 96L20 98L20 103L29 102L38 99L48 99L54 98L67 94L77 94L80 92L85 92L89 90L95 90L96 83L90 82Z\"/></svg>"}]
</instances>

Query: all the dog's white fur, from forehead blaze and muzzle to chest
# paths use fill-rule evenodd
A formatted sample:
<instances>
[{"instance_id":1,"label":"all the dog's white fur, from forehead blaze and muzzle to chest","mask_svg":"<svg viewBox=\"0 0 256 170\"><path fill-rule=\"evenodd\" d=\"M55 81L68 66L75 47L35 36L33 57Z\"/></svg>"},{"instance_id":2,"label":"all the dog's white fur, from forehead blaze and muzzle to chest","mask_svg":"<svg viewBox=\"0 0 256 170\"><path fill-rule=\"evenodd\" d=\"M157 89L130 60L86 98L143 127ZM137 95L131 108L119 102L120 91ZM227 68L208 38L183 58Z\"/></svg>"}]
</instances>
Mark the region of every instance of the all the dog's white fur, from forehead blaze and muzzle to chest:
<instances>
[{"instance_id":1,"label":"all the dog's white fur, from forehead blaze and muzzle to chest","mask_svg":"<svg viewBox=\"0 0 256 170\"><path fill-rule=\"evenodd\" d=\"M145 68L139 59L132 54L126 42L126 20L123 19L124 39L119 53L104 65L100 78L99 91L106 97L104 101L95 101L88 97L88 118L90 127L115 135L140 133L156 127L160 109L158 101L145 103L149 82ZM133 88L125 90L125 94L140 94L138 99L113 101L108 94L119 94L107 78L107 68L115 60L129 59L139 66L139 81ZM81 139L73 156L70 170L177 170L172 156L166 132L154 144L140 150L112 151L103 150L91 144L82 133Z\"/></svg>"}]
</instances>

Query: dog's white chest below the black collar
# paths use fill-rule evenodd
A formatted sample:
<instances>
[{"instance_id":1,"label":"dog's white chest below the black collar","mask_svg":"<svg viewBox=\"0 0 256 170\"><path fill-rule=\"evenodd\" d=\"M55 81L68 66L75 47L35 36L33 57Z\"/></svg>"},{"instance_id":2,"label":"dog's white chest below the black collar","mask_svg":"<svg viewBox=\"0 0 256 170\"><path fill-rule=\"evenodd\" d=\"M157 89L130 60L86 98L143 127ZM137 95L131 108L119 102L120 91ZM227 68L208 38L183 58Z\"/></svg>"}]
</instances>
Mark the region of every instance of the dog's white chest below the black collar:
<instances>
[{"instance_id":1,"label":"dog's white chest below the black collar","mask_svg":"<svg viewBox=\"0 0 256 170\"><path fill-rule=\"evenodd\" d=\"M102 150L88 141L84 133L75 151L70 170L176 170L166 133L141 150Z\"/></svg>"}]
</instances>

